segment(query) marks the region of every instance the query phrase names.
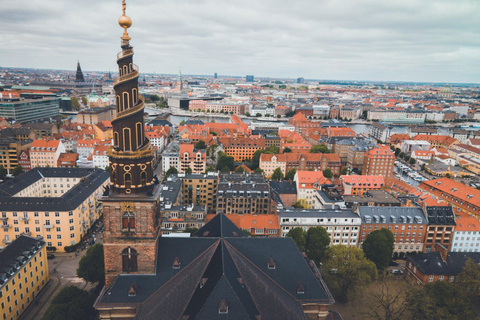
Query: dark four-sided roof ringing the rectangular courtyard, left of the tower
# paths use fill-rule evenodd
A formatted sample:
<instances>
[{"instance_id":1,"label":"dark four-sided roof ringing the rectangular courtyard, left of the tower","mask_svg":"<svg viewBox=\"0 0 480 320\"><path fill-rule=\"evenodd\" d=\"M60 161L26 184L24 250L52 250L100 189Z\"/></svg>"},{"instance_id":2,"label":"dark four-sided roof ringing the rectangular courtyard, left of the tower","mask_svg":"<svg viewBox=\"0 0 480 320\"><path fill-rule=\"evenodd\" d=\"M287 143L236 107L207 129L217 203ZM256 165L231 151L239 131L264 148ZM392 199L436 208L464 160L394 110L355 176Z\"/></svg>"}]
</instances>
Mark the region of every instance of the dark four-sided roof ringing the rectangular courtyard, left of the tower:
<instances>
[{"instance_id":1,"label":"dark four-sided roof ringing the rectangular courtyard, left of the tower","mask_svg":"<svg viewBox=\"0 0 480 320\"><path fill-rule=\"evenodd\" d=\"M108 178L103 169L35 168L0 186L0 208L4 211L71 211L77 208ZM13 197L43 177L82 177L61 197Z\"/></svg>"}]
</instances>

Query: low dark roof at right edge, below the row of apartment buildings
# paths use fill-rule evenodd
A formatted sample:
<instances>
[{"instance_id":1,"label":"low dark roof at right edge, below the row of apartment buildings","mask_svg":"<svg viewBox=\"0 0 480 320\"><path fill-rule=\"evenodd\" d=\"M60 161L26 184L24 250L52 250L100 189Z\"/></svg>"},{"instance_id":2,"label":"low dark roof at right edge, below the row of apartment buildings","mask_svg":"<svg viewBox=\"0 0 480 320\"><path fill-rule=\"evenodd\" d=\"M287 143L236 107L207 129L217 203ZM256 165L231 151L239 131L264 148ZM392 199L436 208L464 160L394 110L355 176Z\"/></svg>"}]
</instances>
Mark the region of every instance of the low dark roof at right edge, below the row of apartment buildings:
<instances>
[{"instance_id":1,"label":"low dark roof at right edge, below the row of apartment buildings","mask_svg":"<svg viewBox=\"0 0 480 320\"><path fill-rule=\"evenodd\" d=\"M450 252L446 261L438 251L408 256L407 259L425 275L455 276L462 272L468 258L480 263L480 252Z\"/></svg>"}]
</instances>

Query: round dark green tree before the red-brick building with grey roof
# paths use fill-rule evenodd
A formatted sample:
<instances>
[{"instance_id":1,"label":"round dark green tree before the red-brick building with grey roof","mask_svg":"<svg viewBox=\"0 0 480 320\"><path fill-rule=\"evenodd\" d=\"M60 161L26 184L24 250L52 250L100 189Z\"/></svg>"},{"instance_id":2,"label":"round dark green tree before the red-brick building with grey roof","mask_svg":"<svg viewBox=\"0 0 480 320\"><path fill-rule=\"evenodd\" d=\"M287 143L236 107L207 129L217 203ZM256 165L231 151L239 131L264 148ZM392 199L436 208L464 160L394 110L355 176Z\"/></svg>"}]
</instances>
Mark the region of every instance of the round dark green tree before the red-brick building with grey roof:
<instances>
[{"instance_id":1,"label":"round dark green tree before the red-brick building with grey roof","mask_svg":"<svg viewBox=\"0 0 480 320\"><path fill-rule=\"evenodd\" d=\"M392 259L394 244L392 231L380 229L367 235L362 249L367 259L375 263L379 272L383 272Z\"/></svg>"}]
</instances>

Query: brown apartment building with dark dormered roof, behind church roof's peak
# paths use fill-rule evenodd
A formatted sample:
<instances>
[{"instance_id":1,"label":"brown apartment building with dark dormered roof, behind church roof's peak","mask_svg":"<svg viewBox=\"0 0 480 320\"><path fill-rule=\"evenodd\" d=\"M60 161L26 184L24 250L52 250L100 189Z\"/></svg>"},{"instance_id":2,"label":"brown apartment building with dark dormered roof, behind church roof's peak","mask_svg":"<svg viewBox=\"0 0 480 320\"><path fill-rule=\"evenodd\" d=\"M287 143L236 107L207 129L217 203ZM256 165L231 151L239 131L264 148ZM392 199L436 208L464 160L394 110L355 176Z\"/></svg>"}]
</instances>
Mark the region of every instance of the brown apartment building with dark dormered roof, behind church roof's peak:
<instances>
[{"instance_id":1,"label":"brown apartment building with dark dormered roof, behind church roof's peak","mask_svg":"<svg viewBox=\"0 0 480 320\"><path fill-rule=\"evenodd\" d=\"M261 174L220 174L217 190L217 214L275 212L270 187Z\"/></svg>"}]
</instances>

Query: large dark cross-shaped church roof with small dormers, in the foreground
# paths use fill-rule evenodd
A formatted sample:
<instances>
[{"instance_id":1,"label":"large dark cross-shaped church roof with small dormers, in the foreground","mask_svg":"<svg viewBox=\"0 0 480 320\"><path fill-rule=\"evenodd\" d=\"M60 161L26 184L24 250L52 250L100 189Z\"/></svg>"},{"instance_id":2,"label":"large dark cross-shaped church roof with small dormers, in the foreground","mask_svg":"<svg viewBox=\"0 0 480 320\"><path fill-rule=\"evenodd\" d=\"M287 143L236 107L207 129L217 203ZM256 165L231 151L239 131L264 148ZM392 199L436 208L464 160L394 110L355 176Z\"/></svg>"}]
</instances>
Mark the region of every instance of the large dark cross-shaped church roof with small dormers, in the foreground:
<instances>
[{"instance_id":1,"label":"large dark cross-shaped church roof with small dormers, in the foreground","mask_svg":"<svg viewBox=\"0 0 480 320\"><path fill-rule=\"evenodd\" d=\"M228 235L234 228L242 236ZM222 214L197 233L202 236L159 238L155 274L119 275L96 307L140 304L137 320L286 320L306 319L302 303L334 303L318 269L292 239L244 237ZM270 259L274 269L268 268ZM297 293L300 281L303 294ZM136 294L129 296L133 284ZM228 314L219 313L223 300Z\"/></svg>"}]
</instances>

